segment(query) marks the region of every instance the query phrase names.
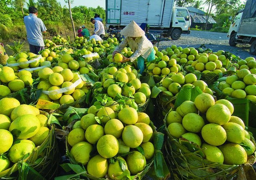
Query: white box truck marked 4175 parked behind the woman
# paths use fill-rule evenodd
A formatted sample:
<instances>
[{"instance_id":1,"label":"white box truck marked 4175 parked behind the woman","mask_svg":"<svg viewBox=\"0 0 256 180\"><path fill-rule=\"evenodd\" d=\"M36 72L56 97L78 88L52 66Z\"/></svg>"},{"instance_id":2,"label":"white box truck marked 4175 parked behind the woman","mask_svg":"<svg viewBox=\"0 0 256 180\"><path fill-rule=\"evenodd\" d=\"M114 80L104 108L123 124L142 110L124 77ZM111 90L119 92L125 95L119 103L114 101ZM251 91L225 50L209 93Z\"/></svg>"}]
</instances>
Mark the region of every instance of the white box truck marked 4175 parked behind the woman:
<instances>
[{"instance_id":1,"label":"white box truck marked 4175 parked behind the woman","mask_svg":"<svg viewBox=\"0 0 256 180\"><path fill-rule=\"evenodd\" d=\"M173 40L190 34L190 15L185 7L174 7L175 0L106 0L106 25L123 29L132 20L146 23Z\"/></svg>"}]
</instances>

